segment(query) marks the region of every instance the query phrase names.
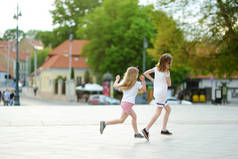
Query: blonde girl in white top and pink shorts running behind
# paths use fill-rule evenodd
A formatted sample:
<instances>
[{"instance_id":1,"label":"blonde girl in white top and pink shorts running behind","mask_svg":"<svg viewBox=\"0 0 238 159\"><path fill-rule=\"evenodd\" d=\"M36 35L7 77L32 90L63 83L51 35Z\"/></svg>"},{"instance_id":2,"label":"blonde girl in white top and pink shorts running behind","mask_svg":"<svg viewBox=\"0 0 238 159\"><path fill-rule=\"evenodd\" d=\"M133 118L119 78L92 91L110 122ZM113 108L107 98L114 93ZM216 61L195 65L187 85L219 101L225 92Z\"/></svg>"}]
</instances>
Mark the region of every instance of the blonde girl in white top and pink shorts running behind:
<instances>
[{"instance_id":1,"label":"blonde girl in white top and pink shorts running behind","mask_svg":"<svg viewBox=\"0 0 238 159\"><path fill-rule=\"evenodd\" d=\"M136 122L136 113L132 109L135 104L135 98L138 90L146 91L146 84L144 76L140 76L142 84L137 80L139 70L136 67L129 67L124 74L123 80L119 82L120 76L116 76L116 81L114 82L113 87L118 88L123 92L123 97L121 100L122 114L120 119L111 120L111 121L101 121L100 122L100 133L103 133L103 130L107 125L120 124L123 123L126 118L130 115L132 117L132 127L134 129L135 138L143 138L144 136L138 132L137 122Z\"/></svg>"}]
</instances>

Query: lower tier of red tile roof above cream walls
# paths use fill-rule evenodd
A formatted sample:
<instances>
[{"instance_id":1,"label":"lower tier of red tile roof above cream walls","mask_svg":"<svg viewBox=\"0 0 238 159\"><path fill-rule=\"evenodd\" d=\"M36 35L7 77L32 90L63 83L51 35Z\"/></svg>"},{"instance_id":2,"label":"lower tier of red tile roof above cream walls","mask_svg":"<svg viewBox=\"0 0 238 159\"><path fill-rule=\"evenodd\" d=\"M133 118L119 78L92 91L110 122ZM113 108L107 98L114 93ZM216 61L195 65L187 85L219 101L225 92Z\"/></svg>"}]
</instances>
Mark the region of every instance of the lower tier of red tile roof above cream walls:
<instances>
[{"instance_id":1,"label":"lower tier of red tile roof above cream walls","mask_svg":"<svg viewBox=\"0 0 238 159\"><path fill-rule=\"evenodd\" d=\"M80 69L89 68L86 64L85 58L79 56L72 57L72 67ZM69 68L69 56L55 55L48 57L40 67L40 69L45 68Z\"/></svg>"}]
</instances>

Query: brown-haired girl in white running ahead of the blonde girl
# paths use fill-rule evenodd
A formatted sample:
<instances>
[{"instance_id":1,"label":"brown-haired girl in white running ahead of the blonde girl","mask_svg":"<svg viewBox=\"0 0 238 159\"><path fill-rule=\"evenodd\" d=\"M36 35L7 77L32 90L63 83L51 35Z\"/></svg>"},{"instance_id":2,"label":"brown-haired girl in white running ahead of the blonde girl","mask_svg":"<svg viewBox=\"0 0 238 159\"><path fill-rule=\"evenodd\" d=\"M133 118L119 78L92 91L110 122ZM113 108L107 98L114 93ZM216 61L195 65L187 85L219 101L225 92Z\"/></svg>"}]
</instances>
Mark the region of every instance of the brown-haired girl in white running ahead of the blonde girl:
<instances>
[{"instance_id":1,"label":"brown-haired girl in white running ahead of the blonde girl","mask_svg":"<svg viewBox=\"0 0 238 159\"><path fill-rule=\"evenodd\" d=\"M142 130L142 133L144 134L147 140L149 140L149 129L154 124L154 122L158 119L163 108L165 109L166 113L164 116L163 128L161 130L161 134L164 134L164 135L172 134L166 129L169 114L171 111L171 108L167 103L167 91L168 91L168 87L171 86L170 72L169 72L171 65L172 65L172 56L170 54L163 54L160 57L160 60L158 64L156 65L156 67L144 72L144 75L149 80L151 80L154 84L153 95L155 98L155 102L157 104L157 109L154 116L152 117L148 125ZM151 73L155 74L154 79L150 76Z\"/></svg>"}]
</instances>

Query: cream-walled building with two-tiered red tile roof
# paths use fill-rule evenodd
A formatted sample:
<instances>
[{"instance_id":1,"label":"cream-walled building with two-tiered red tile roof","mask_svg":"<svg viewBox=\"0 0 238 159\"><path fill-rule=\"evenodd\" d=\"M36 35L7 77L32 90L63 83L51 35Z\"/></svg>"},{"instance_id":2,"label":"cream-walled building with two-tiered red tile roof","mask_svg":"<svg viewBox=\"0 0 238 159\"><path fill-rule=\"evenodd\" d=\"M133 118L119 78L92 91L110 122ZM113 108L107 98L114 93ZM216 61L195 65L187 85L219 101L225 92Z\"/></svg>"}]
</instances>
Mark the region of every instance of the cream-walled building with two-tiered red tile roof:
<instances>
[{"instance_id":1,"label":"cream-walled building with two-tiered red tile roof","mask_svg":"<svg viewBox=\"0 0 238 159\"><path fill-rule=\"evenodd\" d=\"M82 55L82 49L87 43L89 43L88 40L72 41L71 66L74 69L75 85L80 84L82 81L84 81L84 74L86 71L90 72L90 68L86 62L87 59ZM59 88L60 89L59 90L56 84L58 83L57 79L63 78L68 80L70 77L69 48L70 48L70 41L69 40L64 41L54 50L49 52L45 62L38 69L37 87L41 93L56 94L58 91L60 91L61 95L66 94L64 90L65 88L62 88L63 90ZM63 82L66 83L67 82L66 80L63 80ZM66 85L65 83L63 83L62 85L65 86Z\"/></svg>"}]
</instances>

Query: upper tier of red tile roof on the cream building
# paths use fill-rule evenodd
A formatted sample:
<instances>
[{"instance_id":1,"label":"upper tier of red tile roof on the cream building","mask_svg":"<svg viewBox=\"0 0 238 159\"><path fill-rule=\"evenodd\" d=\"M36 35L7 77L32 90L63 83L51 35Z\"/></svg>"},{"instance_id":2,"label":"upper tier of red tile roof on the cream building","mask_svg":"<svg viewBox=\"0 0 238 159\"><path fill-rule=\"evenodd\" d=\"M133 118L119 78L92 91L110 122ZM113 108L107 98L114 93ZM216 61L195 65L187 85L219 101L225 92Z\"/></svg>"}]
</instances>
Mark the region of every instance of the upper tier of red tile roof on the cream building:
<instances>
[{"instance_id":1,"label":"upper tier of red tile roof on the cream building","mask_svg":"<svg viewBox=\"0 0 238 159\"><path fill-rule=\"evenodd\" d=\"M73 40L72 41L72 55L81 55L82 48L84 45L89 43L89 40ZM65 55L69 54L69 40L66 40L54 50L52 50L48 55Z\"/></svg>"}]
</instances>

